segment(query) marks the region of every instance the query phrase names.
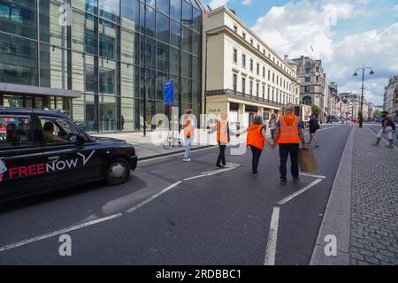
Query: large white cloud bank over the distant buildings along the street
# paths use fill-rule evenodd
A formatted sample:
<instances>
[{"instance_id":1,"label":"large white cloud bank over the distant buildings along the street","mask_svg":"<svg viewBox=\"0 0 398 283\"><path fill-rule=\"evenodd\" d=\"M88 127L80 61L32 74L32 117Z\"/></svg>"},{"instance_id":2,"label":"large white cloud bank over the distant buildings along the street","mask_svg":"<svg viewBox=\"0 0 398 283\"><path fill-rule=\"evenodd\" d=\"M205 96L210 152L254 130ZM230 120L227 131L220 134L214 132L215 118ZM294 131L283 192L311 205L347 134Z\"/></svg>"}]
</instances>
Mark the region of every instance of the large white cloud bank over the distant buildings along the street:
<instances>
[{"instance_id":1,"label":"large white cloud bank over the distant buildings along the street","mask_svg":"<svg viewBox=\"0 0 398 283\"><path fill-rule=\"evenodd\" d=\"M301 0L274 6L252 27L264 42L279 55L301 55L322 59L329 80L339 84L340 91L360 91L360 79L352 77L356 67L371 65L374 78L366 76L367 96L382 102L388 76L398 69L398 23L382 30L348 34L335 40L335 29L343 19L364 16L369 11L357 4L370 1ZM363 8L363 7L362 7ZM314 47L311 50L310 45Z\"/></svg>"}]
</instances>

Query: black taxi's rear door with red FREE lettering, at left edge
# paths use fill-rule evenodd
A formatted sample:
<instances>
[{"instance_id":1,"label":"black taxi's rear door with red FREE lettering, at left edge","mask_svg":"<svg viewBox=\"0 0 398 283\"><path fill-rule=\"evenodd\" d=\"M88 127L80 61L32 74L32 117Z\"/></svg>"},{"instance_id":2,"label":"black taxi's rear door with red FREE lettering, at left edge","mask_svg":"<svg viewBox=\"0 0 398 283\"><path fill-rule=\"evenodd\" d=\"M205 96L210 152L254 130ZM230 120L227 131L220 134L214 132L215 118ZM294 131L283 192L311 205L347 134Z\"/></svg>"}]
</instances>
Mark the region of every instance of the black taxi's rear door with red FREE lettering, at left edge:
<instances>
[{"instance_id":1,"label":"black taxi's rear door with red FREE lettering, at left edge","mask_svg":"<svg viewBox=\"0 0 398 283\"><path fill-rule=\"evenodd\" d=\"M45 190L46 164L34 117L0 111L0 201Z\"/></svg>"}]
</instances>

